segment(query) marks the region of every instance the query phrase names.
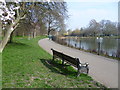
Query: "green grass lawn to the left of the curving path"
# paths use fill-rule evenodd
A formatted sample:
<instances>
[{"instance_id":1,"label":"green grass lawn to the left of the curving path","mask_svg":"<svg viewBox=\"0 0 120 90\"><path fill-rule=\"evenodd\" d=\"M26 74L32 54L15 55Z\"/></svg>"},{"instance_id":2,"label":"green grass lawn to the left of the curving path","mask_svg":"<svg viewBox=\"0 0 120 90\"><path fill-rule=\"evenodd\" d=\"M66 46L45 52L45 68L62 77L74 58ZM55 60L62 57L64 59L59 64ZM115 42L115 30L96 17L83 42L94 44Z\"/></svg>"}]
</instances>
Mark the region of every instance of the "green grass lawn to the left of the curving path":
<instances>
[{"instance_id":1,"label":"green grass lawn to the left of the curving path","mask_svg":"<svg viewBox=\"0 0 120 90\"><path fill-rule=\"evenodd\" d=\"M76 77L71 66L61 66L38 45L38 40L15 37L2 54L3 88L105 88L85 74ZM50 62L50 63L49 63Z\"/></svg>"}]
</instances>

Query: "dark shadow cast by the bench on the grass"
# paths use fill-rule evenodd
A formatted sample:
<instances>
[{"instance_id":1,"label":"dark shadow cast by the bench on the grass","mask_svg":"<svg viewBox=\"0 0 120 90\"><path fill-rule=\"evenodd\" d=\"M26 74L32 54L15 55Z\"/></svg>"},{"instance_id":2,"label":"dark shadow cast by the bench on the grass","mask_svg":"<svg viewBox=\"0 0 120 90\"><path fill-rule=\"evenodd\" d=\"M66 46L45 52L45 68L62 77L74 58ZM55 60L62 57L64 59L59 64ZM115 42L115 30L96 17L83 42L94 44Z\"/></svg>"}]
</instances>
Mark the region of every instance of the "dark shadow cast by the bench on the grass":
<instances>
[{"instance_id":1,"label":"dark shadow cast by the bench on the grass","mask_svg":"<svg viewBox=\"0 0 120 90\"><path fill-rule=\"evenodd\" d=\"M51 70L51 72L59 73L67 76L76 76L77 71L70 65L62 65L60 60L53 61L51 59L40 59L40 61Z\"/></svg>"}]
</instances>

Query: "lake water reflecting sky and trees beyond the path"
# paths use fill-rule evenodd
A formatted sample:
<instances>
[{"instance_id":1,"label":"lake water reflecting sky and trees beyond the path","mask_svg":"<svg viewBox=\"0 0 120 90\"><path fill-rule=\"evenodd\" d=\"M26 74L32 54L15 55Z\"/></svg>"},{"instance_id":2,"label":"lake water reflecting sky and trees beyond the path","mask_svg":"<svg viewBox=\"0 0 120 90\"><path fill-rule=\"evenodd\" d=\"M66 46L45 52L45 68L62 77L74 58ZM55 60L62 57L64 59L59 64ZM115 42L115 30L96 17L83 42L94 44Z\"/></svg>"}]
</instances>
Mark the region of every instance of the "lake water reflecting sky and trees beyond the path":
<instances>
[{"instance_id":1,"label":"lake water reflecting sky and trees beyond the path","mask_svg":"<svg viewBox=\"0 0 120 90\"><path fill-rule=\"evenodd\" d=\"M67 38L65 41L67 44L74 47L76 46L77 48L98 51L97 38ZM118 51L118 41L120 42L120 39L103 38L100 44L100 50L107 53L109 56L112 56L113 54L116 55Z\"/></svg>"}]
</instances>

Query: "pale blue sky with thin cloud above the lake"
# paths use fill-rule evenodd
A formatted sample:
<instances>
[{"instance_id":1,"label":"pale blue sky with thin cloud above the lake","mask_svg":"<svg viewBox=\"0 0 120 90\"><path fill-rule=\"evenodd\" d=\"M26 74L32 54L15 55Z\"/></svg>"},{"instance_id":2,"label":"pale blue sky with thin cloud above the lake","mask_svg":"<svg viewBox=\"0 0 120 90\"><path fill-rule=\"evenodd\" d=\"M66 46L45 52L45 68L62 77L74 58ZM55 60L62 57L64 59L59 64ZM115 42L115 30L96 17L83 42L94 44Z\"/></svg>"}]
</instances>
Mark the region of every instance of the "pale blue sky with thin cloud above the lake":
<instances>
[{"instance_id":1,"label":"pale blue sky with thin cloud above the lake","mask_svg":"<svg viewBox=\"0 0 120 90\"><path fill-rule=\"evenodd\" d=\"M118 21L118 2L67 2L67 5L70 15L67 29L86 27L92 19Z\"/></svg>"}]
</instances>

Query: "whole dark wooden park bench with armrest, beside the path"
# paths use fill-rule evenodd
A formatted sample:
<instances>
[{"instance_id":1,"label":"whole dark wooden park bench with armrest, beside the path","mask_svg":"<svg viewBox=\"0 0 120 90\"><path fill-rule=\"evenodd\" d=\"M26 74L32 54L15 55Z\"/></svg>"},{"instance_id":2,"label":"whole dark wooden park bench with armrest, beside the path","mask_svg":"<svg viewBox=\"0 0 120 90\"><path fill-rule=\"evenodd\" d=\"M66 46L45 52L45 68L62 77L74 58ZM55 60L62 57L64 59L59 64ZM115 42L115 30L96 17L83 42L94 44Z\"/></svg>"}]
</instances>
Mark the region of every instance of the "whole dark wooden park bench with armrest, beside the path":
<instances>
[{"instance_id":1,"label":"whole dark wooden park bench with armrest, beside the path","mask_svg":"<svg viewBox=\"0 0 120 90\"><path fill-rule=\"evenodd\" d=\"M79 58L73 58L71 56L68 56L62 52L58 52L54 49L51 49L53 52L53 60L55 58L60 58L62 60L62 65L64 65L64 62L69 63L70 65L74 66L77 68L77 76L82 73L82 70L85 70L84 73L88 74L89 72L89 64L88 63L81 63Z\"/></svg>"}]
</instances>

